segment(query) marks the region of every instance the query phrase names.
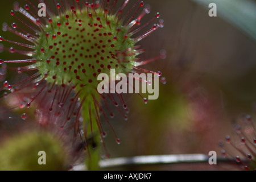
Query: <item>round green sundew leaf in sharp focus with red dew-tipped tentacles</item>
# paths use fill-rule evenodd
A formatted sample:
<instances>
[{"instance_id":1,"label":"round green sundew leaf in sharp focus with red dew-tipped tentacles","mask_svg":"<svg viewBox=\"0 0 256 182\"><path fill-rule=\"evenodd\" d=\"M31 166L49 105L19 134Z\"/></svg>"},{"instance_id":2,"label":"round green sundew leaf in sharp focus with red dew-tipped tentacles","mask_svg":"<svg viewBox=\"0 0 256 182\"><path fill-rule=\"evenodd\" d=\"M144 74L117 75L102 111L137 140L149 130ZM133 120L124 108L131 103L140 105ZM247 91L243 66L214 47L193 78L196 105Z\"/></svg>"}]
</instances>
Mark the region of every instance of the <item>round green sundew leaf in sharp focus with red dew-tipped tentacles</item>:
<instances>
[{"instance_id":1,"label":"round green sundew leaf in sharp focus with red dew-tipped tentacles","mask_svg":"<svg viewBox=\"0 0 256 182\"><path fill-rule=\"evenodd\" d=\"M0 64L5 72L13 72L13 77L23 73L27 76L20 76L22 79L16 82L3 81L2 99L28 90L26 99L16 101L12 107L43 110L40 116L43 126L54 122L64 130L72 125L73 137L81 139L86 151L86 164L90 169L97 169L100 150L95 148L101 142L105 148L102 122L108 123L116 142L120 143L109 121L114 117L109 104L114 104L125 120L128 112L122 93L98 93L98 75L105 73L110 77L110 70L115 69L115 76L154 73L162 77L161 72L148 71L143 65L164 59L163 50L159 49L159 55L146 60L138 57L146 51L139 42L163 27L159 13L149 13L150 6L143 1L15 2L10 16L16 21L3 23L3 31L13 36L0 36L1 50L25 55L27 59L1 59ZM152 18L141 23L144 16ZM23 42L16 41L16 37ZM6 47L6 42L13 46ZM136 79L151 85L147 80ZM148 102L142 94L138 96L142 102ZM27 117L27 113L20 116ZM107 151L105 154L108 156Z\"/></svg>"}]
</instances>

